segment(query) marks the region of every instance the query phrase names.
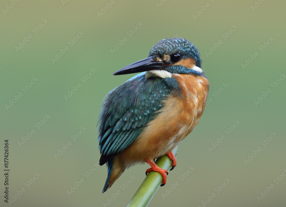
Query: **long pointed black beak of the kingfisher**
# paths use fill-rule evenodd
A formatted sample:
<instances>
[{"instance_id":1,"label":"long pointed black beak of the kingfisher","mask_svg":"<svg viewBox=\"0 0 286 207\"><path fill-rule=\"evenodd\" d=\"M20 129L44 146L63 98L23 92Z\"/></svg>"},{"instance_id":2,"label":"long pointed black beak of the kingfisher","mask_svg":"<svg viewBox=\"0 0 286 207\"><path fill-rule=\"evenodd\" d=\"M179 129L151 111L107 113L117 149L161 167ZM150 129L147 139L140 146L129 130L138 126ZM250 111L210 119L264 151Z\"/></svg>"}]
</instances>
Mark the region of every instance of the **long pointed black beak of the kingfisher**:
<instances>
[{"instance_id":1,"label":"long pointed black beak of the kingfisher","mask_svg":"<svg viewBox=\"0 0 286 207\"><path fill-rule=\"evenodd\" d=\"M113 75L124 75L130 73L140 73L144 71L152 70L162 70L165 66L165 63L153 60L153 56L139 60L136 63L132 63L119 71L113 73Z\"/></svg>"}]
</instances>

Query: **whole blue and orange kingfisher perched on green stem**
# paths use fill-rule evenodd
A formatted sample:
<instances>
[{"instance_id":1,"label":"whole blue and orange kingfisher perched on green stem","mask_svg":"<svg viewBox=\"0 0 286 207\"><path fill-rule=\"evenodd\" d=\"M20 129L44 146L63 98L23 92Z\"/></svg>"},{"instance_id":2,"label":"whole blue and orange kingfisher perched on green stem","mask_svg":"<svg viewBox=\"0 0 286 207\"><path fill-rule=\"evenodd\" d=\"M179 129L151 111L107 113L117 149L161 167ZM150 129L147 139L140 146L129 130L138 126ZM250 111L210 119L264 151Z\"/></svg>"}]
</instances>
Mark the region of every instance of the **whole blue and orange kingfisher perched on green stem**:
<instances>
[{"instance_id":1,"label":"whole blue and orange kingfisher perched on green stem","mask_svg":"<svg viewBox=\"0 0 286 207\"><path fill-rule=\"evenodd\" d=\"M209 82L198 48L184 38L163 39L148 57L113 75L139 73L110 91L98 120L99 164L108 174L104 193L125 169L148 163L166 184L168 171L154 163L168 155L197 125L206 105ZM171 169L171 170L172 170Z\"/></svg>"}]
</instances>

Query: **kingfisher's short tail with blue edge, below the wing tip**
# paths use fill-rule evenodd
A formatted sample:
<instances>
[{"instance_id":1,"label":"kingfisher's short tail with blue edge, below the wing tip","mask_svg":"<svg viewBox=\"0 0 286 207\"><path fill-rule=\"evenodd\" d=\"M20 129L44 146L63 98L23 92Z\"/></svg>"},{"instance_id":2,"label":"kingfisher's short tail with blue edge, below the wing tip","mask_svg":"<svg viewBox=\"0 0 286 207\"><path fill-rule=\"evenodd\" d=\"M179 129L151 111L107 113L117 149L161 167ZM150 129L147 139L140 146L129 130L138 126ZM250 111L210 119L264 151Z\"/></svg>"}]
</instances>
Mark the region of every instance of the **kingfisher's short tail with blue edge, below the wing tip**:
<instances>
[{"instance_id":1,"label":"kingfisher's short tail with blue edge, below the wing tip","mask_svg":"<svg viewBox=\"0 0 286 207\"><path fill-rule=\"evenodd\" d=\"M110 159L107 163L107 179L102 193L106 192L108 188L117 180L118 177L124 172L124 169L119 165L116 157Z\"/></svg>"}]
</instances>

